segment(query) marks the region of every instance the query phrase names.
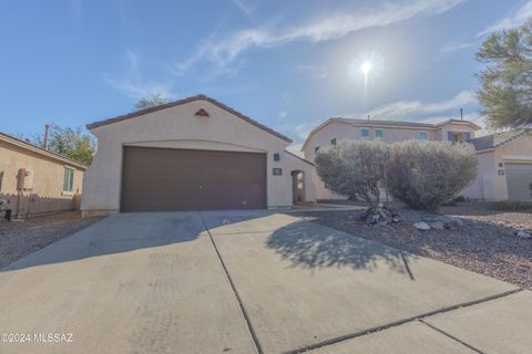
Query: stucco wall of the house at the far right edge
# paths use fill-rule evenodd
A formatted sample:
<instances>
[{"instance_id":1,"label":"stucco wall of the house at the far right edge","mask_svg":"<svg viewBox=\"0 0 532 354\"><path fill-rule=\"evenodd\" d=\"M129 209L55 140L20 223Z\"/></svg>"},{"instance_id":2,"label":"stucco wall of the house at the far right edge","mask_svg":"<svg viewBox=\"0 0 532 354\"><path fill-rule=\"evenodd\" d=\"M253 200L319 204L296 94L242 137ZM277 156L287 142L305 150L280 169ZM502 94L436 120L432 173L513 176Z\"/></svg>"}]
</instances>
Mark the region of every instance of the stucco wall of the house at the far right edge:
<instances>
[{"instance_id":1,"label":"stucco wall of the house at the far right edge","mask_svg":"<svg viewBox=\"0 0 532 354\"><path fill-rule=\"evenodd\" d=\"M532 164L532 133L520 136L501 147L489 152L479 152L479 175L473 184L463 190L471 199L505 200L508 199L507 175L504 164L523 162ZM502 167L499 166L502 164Z\"/></svg>"}]
</instances>

